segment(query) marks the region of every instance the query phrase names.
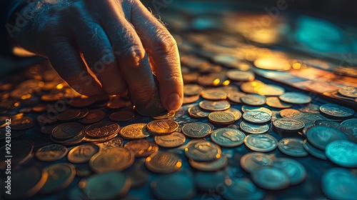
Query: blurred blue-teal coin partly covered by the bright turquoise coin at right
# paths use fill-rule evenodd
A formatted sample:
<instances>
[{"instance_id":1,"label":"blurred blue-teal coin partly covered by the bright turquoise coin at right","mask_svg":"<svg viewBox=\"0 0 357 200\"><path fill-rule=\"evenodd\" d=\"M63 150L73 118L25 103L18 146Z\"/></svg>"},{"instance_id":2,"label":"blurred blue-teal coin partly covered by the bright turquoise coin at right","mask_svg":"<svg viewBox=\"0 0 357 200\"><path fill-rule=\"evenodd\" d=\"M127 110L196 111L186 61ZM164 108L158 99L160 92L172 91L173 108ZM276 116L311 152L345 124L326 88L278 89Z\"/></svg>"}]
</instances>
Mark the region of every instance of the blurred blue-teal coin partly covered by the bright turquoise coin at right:
<instances>
[{"instance_id":1,"label":"blurred blue-teal coin partly covered by the bright turquoise coin at right","mask_svg":"<svg viewBox=\"0 0 357 200\"><path fill-rule=\"evenodd\" d=\"M313 126L306 132L306 138L313 146L322 150L332 141L347 140L347 136L341 131L327 126Z\"/></svg>"}]
</instances>

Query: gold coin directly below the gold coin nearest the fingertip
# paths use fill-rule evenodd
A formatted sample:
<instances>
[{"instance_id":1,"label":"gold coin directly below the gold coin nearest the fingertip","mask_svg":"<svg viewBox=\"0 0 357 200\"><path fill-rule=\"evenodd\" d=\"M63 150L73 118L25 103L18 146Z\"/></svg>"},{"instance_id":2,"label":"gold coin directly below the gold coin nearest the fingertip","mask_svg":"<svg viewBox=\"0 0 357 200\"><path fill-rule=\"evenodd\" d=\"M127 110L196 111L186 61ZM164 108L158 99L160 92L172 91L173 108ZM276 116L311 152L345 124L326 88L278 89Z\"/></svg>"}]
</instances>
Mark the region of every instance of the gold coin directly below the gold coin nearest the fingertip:
<instances>
[{"instance_id":1,"label":"gold coin directly below the gold coin nearest the fingertip","mask_svg":"<svg viewBox=\"0 0 357 200\"><path fill-rule=\"evenodd\" d=\"M174 132L172 134L162 135L162 136L155 136L154 138L156 144L165 148L173 148L176 146L181 146L185 143L186 137L185 135Z\"/></svg>"}]
</instances>

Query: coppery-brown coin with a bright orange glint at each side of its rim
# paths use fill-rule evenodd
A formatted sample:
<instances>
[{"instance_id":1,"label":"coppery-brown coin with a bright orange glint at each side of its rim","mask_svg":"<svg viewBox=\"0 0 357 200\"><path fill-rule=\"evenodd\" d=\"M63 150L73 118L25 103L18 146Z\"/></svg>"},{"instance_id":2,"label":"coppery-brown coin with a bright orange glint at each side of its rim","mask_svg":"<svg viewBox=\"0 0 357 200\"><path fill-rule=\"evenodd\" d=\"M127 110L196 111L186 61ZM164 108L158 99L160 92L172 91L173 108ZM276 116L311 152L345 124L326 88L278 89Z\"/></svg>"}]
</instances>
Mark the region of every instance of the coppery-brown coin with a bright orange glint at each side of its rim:
<instances>
[{"instance_id":1,"label":"coppery-brown coin with a bright orange glint at each side of its rim","mask_svg":"<svg viewBox=\"0 0 357 200\"><path fill-rule=\"evenodd\" d=\"M146 158L145 166L154 173L168 174L182 166L182 160L176 154L164 151L157 151Z\"/></svg>"}]
</instances>

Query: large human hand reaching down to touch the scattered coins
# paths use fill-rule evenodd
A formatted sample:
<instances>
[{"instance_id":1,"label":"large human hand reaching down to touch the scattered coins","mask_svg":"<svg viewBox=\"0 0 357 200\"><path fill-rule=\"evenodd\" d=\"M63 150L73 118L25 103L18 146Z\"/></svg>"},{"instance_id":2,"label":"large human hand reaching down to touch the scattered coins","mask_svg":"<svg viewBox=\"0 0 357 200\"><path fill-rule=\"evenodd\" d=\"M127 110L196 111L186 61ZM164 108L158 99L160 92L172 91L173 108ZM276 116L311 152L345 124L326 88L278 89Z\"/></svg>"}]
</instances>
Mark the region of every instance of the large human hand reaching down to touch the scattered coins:
<instances>
[{"instance_id":1,"label":"large human hand reaching down to touch the scattered coins","mask_svg":"<svg viewBox=\"0 0 357 200\"><path fill-rule=\"evenodd\" d=\"M36 9L30 4L22 9L32 11L33 18L14 32L14 41L49 58L76 91L87 96L129 91L134 105L145 105L157 94L154 72L164 108L181 106L176 41L139 0L39 2L32 3Z\"/></svg>"}]
</instances>

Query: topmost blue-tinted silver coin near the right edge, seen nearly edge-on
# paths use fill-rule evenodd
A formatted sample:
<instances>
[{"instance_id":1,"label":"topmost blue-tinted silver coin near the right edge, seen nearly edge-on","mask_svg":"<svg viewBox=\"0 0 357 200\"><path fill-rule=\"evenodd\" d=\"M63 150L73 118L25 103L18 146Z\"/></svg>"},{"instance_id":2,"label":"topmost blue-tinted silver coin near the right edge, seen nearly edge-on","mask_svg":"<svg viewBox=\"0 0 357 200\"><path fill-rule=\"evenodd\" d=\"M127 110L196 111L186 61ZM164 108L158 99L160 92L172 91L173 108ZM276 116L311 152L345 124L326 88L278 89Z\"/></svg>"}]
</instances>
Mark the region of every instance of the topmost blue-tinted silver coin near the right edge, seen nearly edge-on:
<instances>
[{"instance_id":1,"label":"topmost blue-tinted silver coin near the right edge, seen nearly edge-on","mask_svg":"<svg viewBox=\"0 0 357 200\"><path fill-rule=\"evenodd\" d=\"M354 111L343 106L338 106L336 104L323 104L320 106L321 114L333 118L333 119L344 119L353 116Z\"/></svg>"}]
</instances>

